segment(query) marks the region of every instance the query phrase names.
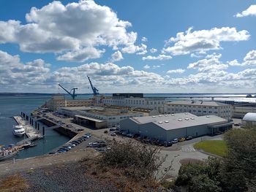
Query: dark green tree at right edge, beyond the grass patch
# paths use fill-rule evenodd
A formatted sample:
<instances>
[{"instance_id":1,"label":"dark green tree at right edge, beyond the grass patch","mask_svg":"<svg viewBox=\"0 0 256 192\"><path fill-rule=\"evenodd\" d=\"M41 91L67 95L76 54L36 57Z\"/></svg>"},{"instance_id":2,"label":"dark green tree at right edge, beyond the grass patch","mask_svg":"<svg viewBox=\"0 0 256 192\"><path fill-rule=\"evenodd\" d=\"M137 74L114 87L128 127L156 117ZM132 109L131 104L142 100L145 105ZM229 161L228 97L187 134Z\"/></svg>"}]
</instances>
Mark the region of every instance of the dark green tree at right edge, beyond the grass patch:
<instances>
[{"instance_id":1,"label":"dark green tree at right edge, beyond the grass patch","mask_svg":"<svg viewBox=\"0 0 256 192\"><path fill-rule=\"evenodd\" d=\"M225 134L227 156L222 168L225 191L248 191L256 180L256 130L233 129Z\"/></svg>"}]
</instances>

